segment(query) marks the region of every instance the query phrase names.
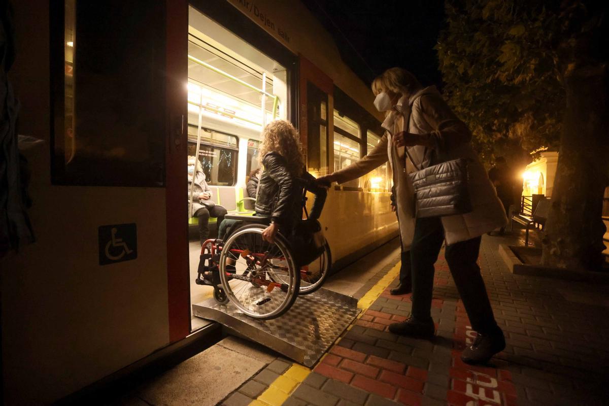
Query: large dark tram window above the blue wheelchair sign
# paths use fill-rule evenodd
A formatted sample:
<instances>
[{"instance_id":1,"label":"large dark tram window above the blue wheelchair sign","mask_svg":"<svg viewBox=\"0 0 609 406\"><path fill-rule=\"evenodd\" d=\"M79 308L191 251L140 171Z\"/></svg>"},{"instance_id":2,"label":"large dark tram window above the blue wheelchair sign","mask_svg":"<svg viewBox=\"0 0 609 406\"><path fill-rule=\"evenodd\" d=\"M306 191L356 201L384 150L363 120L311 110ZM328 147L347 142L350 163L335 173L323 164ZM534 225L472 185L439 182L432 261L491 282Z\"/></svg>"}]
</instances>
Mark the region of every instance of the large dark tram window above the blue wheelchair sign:
<instances>
[{"instance_id":1,"label":"large dark tram window above the blue wheelchair sign","mask_svg":"<svg viewBox=\"0 0 609 406\"><path fill-rule=\"evenodd\" d=\"M163 186L164 5L53 4L52 182Z\"/></svg>"}]
</instances>

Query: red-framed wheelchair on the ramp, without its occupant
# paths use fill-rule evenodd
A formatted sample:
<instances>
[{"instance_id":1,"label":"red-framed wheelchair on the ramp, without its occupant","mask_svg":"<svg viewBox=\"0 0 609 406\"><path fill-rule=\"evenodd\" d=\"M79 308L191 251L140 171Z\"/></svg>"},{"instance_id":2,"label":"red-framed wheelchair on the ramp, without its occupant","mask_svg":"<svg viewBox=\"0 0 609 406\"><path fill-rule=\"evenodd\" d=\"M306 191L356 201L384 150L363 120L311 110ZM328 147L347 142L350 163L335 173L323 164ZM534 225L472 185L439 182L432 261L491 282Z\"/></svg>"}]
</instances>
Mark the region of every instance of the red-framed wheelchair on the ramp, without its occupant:
<instances>
[{"instance_id":1,"label":"red-framed wheelchair on the ramp, without its occupant","mask_svg":"<svg viewBox=\"0 0 609 406\"><path fill-rule=\"evenodd\" d=\"M306 197L303 208L304 200ZM270 217L226 215L225 219L238 222L226 240L203 243L195 280L214 288L217 303L230 301L245 315L269 320L286 313L298 295L322 287L332 263L327 241L319 257L301 266L290 240L281 232L273 243L262 239Z\"/></svg>"}]
</instances>

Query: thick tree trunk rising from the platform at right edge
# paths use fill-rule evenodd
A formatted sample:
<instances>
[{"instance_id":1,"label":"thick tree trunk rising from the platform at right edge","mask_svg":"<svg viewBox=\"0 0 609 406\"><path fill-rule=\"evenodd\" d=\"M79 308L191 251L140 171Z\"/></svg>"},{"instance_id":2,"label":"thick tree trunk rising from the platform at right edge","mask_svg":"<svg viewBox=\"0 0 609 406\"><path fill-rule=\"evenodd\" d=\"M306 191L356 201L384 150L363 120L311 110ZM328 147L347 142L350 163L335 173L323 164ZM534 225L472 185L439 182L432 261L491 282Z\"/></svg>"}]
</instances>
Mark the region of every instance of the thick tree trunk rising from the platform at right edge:
<instances>
[{"instance_id":1,"label":"thick tree trunk rising from the platform at right edge","mask_svg":"<svg viewBox=\"0 0 609 406\"><path fill-rule=\"evenodd\" d=\"M609 161L607 66L571 65L564 83L567 108L541 264L596 271L605 248L601 216Z\"/></svg>"}]
</instances>

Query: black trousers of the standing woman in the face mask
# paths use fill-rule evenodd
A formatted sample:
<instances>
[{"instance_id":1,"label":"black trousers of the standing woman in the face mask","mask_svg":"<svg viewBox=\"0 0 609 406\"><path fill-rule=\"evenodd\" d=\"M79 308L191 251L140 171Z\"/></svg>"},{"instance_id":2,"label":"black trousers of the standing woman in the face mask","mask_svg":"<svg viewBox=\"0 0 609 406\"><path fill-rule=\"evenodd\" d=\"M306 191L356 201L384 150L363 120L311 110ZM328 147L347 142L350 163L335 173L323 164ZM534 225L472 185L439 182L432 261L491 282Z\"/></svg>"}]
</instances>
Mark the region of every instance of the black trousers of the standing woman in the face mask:
<instances>
[{"instance_id":1,"label":"black trousers of the standing woman in the face mask","mask_svg":"<svg viewBox=\"0 0 609 406\"><path fill-rule=\"evenodd\" d=\"M439 217L417 219L410 247L412 265L412 316L417 320L431 318L434 289L434 264L444 240ZM482 334L499 327L493 315L484 280L477 264L482 237L446 246L445 257L457 290L465 306L471 327Z\"/></svg>"}]
</instances>

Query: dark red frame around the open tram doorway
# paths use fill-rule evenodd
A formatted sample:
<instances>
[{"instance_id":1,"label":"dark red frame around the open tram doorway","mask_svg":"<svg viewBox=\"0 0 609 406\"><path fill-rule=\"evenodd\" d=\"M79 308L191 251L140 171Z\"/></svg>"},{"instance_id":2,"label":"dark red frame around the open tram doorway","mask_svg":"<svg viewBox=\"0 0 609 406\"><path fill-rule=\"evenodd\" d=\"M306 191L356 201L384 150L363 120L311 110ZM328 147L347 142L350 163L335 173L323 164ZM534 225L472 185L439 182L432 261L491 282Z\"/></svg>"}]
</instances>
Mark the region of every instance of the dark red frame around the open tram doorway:
<instances>
[{"instance_id":1,"label":"dark red frame around the open tram doorway","mask_svg":"<svg viewBox=\"0 0 609 406\"><path fill-rule=\"evenodd\" d=\"M166 0L166 228L169 341L191 334L188 216L184 200L188 121L188 7L195 9L281 63L287 72L287 119L298 123L298 57L228 2Z\"/></svg>"}]
</instances>

